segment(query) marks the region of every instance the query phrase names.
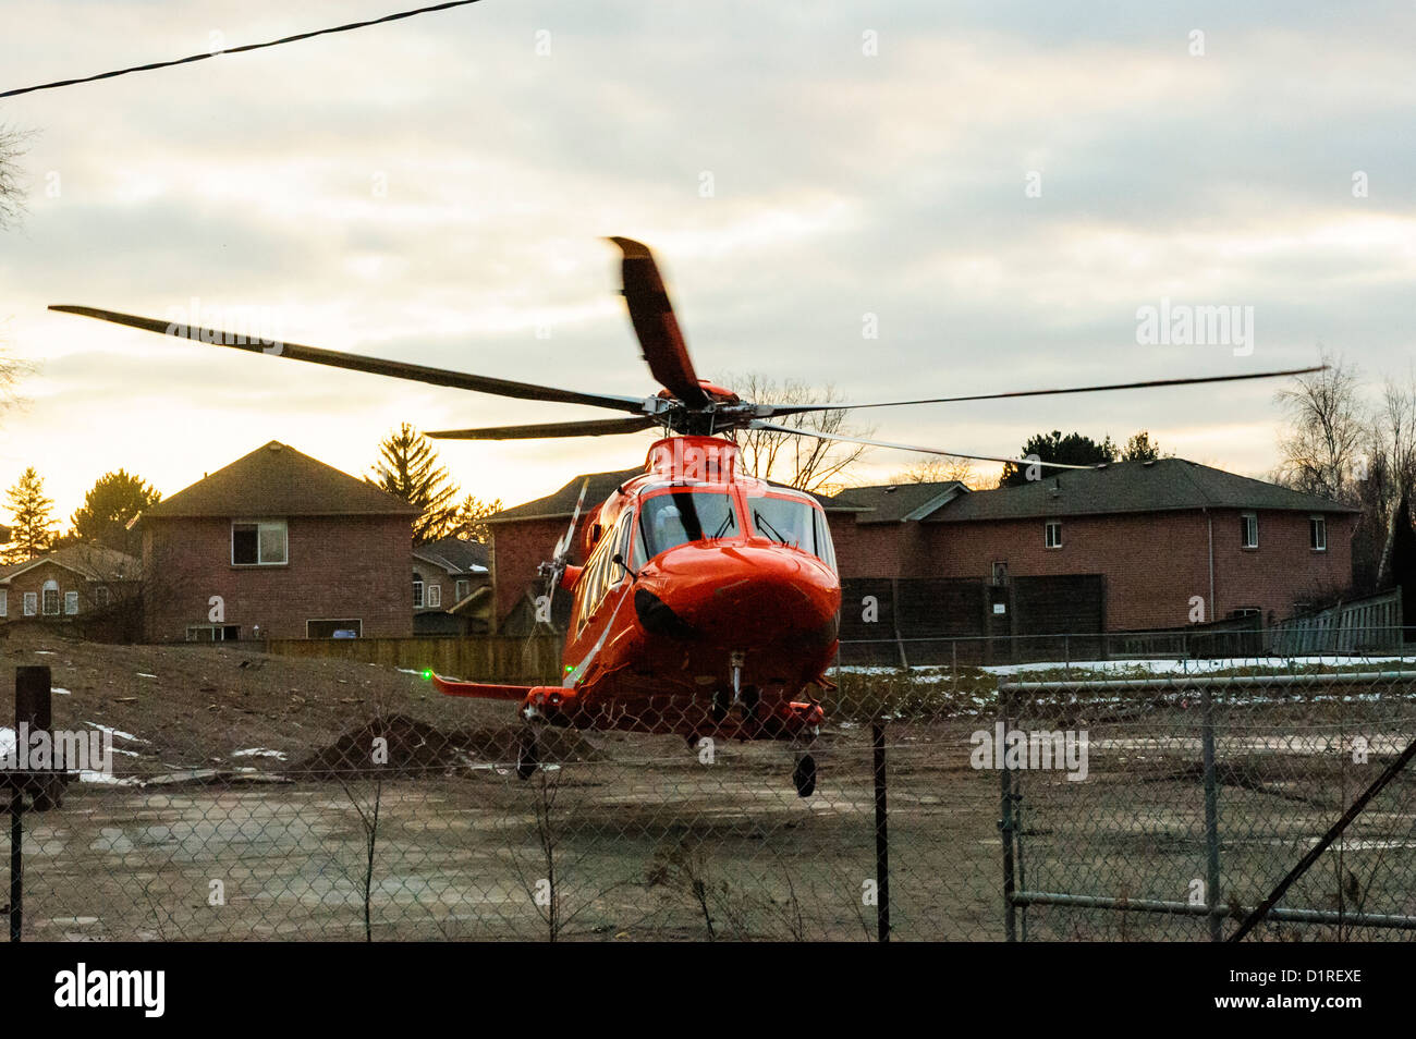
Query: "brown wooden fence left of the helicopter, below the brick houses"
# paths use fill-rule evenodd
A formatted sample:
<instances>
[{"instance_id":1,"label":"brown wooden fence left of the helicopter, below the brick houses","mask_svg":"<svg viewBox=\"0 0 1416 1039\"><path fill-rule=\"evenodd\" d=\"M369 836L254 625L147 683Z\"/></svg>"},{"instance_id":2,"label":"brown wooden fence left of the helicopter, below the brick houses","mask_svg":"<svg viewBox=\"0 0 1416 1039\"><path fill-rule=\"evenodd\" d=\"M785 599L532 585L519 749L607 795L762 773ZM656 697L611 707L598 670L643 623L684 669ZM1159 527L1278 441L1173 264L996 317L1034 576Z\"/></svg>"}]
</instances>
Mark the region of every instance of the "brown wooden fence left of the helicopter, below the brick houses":
<instances>
[{"instance_id":1,"label":"brown wooden fence left of the helicopter, below the brick houses","mask_svg":"<svg viewBox=\"0 0 1416 1039\"><path fill-rule=\"evenodd\" d=\"M558 684L558 636L470 636L423 638L270 638L268 651L285 657L334 657L364 664L422 671L432 668L447 678Z\"/></svg>"}]
</instances>

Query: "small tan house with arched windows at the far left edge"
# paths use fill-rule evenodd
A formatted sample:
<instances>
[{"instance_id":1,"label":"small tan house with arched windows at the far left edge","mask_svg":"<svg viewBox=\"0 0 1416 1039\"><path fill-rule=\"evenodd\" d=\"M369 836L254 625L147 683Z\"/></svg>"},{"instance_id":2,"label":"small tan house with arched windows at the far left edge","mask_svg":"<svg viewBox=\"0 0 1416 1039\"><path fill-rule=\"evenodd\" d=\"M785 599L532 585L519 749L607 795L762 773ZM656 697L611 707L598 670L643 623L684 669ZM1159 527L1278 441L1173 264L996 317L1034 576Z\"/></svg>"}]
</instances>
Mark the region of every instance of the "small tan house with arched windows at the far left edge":
<instances>
[{"instance_id":1,"label":"small tan house with arched windows at the far left edge","mask_svg":"<svg viewBox=\"0 0 1416 1039\"><path fill-rule=\"evenodd\" d=\"M132 597L142 563L102 545L65 545L0 568L0 623L72 621L102 614Z\"/></svg>"}]
</instances>

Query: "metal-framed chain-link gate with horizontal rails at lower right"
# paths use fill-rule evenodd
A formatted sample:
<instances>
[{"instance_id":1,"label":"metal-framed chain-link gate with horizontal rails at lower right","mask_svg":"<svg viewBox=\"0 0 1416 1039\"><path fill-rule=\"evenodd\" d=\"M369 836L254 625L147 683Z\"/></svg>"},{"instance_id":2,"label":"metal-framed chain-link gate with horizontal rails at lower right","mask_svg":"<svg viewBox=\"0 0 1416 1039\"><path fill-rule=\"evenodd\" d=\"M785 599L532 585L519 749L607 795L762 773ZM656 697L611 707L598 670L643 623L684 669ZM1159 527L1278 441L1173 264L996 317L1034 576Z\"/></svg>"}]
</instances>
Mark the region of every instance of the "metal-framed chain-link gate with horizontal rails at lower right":
<instances>
[{"instance_id":1,"label":"metal-framed chain-link gate with horizontal rails at lower right","mask_svg":"<svg viewBox=\"0 0 1416 1039\"><path fill-rule=\"evenodd\" d=\"M1416 930L1416 668L1273 671L1000 687L1010 732L1087 743L1085 780L1004 771L1011 937Z\"/></svg>"}]
</instances>

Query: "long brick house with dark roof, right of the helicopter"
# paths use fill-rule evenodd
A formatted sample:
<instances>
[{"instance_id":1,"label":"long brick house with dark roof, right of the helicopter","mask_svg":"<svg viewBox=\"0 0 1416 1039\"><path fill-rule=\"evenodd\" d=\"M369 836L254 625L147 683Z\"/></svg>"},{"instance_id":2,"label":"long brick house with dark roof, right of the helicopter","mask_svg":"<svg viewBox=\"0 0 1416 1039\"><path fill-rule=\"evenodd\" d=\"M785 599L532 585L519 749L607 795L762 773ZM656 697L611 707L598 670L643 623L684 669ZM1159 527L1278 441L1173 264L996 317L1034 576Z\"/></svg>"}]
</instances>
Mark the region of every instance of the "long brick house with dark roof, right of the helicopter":
<instances>
[{"instance_id":1,"label":"long brick house with dark roof, right of the helicopter","mask_svg":"<svg viewBox=\"0 0 1416 1039\"><path fill-rule=\"evenodd\" d=\"M857 487L838 500L858 510L833 522L843 579L1095 575L1106 631L1253 613L1267 624L1352 580L1358 510L1184 459L986 491Z\"/></svg>"}]
</instances>

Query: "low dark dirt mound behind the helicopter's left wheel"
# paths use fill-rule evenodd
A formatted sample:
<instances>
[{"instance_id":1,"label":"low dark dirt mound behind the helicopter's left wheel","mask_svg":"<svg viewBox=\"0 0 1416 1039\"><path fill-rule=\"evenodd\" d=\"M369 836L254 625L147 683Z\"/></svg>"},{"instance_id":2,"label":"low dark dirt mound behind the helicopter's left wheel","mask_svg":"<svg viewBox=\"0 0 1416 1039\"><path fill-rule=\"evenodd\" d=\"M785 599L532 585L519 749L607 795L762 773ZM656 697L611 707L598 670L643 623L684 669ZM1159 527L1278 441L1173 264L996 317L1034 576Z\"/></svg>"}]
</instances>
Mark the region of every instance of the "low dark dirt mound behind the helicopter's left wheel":
<instances>
[{"instance_id":1,"label":"low dark dirt mound behind the helicopter's left wheel","mask_svg":"<svg viewBox=\"0 0 1416 1039\"><path fill-rule=\"evenodd\" d=\"M334 743L316 750L285 773L289 776L419 776L428 773L510 767L517 760L520 726L442 730L406 715L364 722ZM581 733L539 729L542 762L588 762L598 754Z\"/></svg>"}]
</instances>

